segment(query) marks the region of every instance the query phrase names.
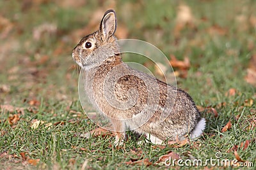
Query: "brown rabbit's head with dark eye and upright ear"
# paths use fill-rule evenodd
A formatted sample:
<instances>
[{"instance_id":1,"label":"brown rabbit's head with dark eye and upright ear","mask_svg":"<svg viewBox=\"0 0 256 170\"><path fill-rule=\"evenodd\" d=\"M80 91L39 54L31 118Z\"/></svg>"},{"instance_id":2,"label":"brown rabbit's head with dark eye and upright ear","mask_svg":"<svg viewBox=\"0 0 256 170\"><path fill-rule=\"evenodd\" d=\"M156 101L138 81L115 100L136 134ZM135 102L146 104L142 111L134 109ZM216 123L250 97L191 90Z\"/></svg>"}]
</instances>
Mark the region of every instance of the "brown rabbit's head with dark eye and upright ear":
<instances>
[{"instance_id":1,"label":"brown rabbit's head with dark eye and upright ear","mask_svg":"<svg viewBox=\"0 0 256 170\"><path fill-rule=\"evenodd\" d=\"M100 22L99 30L84 36L72 52L72 58L85 70L100 64L119 53L116 38L115 11L108 10Z\"/></svg>"}]
</instances>

